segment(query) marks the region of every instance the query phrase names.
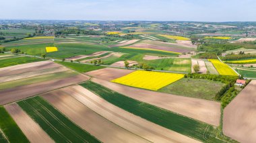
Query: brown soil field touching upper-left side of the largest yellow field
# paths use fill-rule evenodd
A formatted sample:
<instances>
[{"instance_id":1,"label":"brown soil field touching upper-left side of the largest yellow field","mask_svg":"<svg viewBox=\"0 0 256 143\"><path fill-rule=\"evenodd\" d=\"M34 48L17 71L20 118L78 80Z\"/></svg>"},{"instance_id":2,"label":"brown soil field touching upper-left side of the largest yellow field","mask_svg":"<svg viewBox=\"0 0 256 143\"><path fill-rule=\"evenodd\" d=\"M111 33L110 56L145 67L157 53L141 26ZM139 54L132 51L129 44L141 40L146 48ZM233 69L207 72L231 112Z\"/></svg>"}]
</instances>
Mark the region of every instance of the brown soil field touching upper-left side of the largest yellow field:
<instances>
[{"instance_id":1,"label":"brown soil field touching upper-left side of the largest yellow field","mask_svg":"<svg viewBox=\"0 0 256 143\"><path fill-rule=\"evenodd\" d=\"M102 68L99 70L94 70L85 73L91 77L96 77L98 79L103 79L106 81L111 81L113 79L117 79L119 77L123 77L128 75L129 73L133 73L134 70L125 70L125 69L118 69L118 68Z\"/></svg>"}]
</instances>

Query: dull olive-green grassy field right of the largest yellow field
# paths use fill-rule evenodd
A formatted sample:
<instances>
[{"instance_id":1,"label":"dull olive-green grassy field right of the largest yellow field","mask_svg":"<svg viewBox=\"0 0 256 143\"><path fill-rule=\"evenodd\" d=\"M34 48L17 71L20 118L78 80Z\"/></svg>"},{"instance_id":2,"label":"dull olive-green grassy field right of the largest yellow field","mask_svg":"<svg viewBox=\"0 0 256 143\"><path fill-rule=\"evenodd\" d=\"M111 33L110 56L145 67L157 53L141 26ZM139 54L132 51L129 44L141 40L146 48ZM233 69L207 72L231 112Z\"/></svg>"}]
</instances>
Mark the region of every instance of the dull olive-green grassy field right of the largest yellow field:
<instances>
[{"instance_id":1,"label":"dull olive-green grassy field right of the largest yellow field","mask_svg":"<svg viewBox=\"0 0 256 143\"><path fill-rule=\"evenodd\" d=\"M158 91L186 97L214 100L216 93L220 91L222 86L224 86L224 83L218 81L184 78Z\"/></svg>"}]
</instances>

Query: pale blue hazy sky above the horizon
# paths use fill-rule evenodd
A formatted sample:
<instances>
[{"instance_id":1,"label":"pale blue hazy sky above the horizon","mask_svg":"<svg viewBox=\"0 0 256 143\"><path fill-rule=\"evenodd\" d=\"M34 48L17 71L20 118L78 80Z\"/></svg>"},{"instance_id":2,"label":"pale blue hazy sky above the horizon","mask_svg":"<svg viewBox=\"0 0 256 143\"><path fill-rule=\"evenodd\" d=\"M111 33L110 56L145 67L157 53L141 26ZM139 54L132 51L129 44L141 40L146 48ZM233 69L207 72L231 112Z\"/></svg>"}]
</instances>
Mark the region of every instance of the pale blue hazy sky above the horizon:
<instances>
[{"instance_id":1,"label":"pale blue hazy sky above the horizon","mask_svg":"<svg viewBox=\"0 0 256 143\"><path fill-rule=\"evenodd\" d=\"M256 0L0 0L0 19L256 21Z\"/></svg>"}]
</instances>

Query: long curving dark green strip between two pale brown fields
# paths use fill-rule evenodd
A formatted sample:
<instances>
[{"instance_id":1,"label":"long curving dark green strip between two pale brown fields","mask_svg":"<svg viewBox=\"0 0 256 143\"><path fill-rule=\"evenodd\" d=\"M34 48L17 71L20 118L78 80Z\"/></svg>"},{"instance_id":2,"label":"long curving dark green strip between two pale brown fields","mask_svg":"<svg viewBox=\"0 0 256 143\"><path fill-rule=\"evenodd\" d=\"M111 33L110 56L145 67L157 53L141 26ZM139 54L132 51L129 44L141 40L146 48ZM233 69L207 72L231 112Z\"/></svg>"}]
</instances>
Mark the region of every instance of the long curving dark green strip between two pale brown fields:
<instances>
[{"instance_id":1,"label":"long curving dark green strip between two pale brown fields","mask_svg":"<svg viewBox=\"0 0 256 143\"><path fill-rule=\"evenodd\" d=\"M218 136L219 130L209 124L193 120L189 117L173 113L148 103L131 99L125 95L121 95L115 91L107 89L106 87L92 83L91 81L81 85L96 93L109 103L125 109L134 115L138 115L150 122L163 126L164 128L173 130L174 132L195 138L201 142L233 142L224 136ZM218 138L216 136L218 136ZM220 138L222 138L222 140Z\"/></svg>"}]
</instances>

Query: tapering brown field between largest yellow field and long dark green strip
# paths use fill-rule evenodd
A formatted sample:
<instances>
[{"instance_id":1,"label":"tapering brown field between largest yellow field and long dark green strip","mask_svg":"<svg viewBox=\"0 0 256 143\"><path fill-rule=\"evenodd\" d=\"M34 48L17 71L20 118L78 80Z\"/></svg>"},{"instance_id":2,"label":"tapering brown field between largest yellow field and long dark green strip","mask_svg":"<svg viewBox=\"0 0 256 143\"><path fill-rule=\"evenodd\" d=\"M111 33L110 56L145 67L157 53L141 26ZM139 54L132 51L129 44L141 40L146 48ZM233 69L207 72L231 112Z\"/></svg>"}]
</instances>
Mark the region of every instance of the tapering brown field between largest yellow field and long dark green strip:
<instances>
[{"instance_id":1,"label":"tapering brown field between largest yellow field and long dark green strip","mask_svg":"<svg viewBox=\"0 0 256 143\"><path fill-rule=\"evenodd\" d=\"M127 97L162 107L195 120L214 126L220 124L220 103L218 102L137 89L95 78L92 81Z\"/></svg>"}]
</instances>

